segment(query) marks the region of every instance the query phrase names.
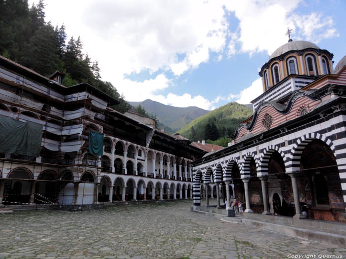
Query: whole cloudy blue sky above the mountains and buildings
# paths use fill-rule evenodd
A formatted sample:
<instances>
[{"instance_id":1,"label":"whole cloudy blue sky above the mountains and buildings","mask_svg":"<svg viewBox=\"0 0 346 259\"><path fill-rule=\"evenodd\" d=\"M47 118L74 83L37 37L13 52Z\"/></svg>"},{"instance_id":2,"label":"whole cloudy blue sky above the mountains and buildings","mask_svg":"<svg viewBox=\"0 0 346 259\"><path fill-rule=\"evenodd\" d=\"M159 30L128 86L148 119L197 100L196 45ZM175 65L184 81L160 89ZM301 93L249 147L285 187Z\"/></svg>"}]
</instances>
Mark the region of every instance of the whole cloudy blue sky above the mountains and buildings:
<instances>
[{"instance_id":1,"label":"whole cloudy blue sky above the mountains and buildings","mask_svg":"<svg viewBox=\"0 0 346 259\"><path fill-rule=\"evenodd\" d=\"M37 3L38 0L29 0ZM214 110L262 93L261 66L293 40L346 55L345 0L45 0L127 101Z\"/></svg>"}]
</instances>

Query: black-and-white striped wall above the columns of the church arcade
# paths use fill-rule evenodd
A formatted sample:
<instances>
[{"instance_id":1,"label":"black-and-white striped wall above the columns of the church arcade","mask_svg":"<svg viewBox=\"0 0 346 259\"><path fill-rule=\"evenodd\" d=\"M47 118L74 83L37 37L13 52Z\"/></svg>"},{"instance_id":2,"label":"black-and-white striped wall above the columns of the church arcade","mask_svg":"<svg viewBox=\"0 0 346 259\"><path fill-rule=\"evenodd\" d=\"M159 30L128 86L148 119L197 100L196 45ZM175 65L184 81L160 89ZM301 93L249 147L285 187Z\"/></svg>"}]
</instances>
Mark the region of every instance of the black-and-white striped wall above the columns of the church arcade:
<instances>
[{"instance_id":1,"label":"black-and-white striped wall above the columns of the church arcade","mask_svg":"<svg viewBox=\"0 0 346 259\"><path fill-rule=\"evenodd\" d=\"M315 139L326 143L335 154L346 206L346 114L339 114L338 116L331 114L315 121L314 125L310 127L297 128L295 131L286 132L283 137L269 141L262 140L257 143L257 146L244 147L214 161L194 165L194 172L203 170L211 164L222 163L223 175L226 175L228 180L231 170L227 163L232 161L233 164L238 164L241 178L246 179L250 177L250 160L254 158L256 162L259 161L257 162L258 176L261 176L260 174L267 168L267 159L270 154L268 151L274 152L273 150L275 150L284 160L286 173L292 173L293 170L299 168L303 148ZM287 145L287 141L292 142L292 144ZM259 153L257 153L257 149L260 150ZM244 154L241 156L242 159L237 161L242 153Z\"/></svg>"}]
</instances>

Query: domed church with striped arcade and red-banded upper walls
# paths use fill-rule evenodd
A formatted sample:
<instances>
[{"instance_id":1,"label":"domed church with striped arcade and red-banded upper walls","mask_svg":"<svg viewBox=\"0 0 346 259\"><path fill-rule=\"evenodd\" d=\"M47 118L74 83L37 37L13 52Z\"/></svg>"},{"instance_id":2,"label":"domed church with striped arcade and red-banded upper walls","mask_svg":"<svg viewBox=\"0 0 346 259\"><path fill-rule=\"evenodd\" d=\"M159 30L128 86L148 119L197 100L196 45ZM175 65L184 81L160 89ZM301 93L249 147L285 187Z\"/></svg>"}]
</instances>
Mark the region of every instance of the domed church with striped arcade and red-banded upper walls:
<instances>
[{"instance_id":1,"label":"domed church with striped arcade and red-banded upper walls","mask_svg":"<svg viewBox=\"0 0 346 259\"><path fill-rule=\"evenodd\" d=\"M290 39L259 75L231 145L192 163L194 206L213 183L227 208L234 195L246 213L346 222L346 56L333 69L331 52Z\"/></svg>"}]
</instances>

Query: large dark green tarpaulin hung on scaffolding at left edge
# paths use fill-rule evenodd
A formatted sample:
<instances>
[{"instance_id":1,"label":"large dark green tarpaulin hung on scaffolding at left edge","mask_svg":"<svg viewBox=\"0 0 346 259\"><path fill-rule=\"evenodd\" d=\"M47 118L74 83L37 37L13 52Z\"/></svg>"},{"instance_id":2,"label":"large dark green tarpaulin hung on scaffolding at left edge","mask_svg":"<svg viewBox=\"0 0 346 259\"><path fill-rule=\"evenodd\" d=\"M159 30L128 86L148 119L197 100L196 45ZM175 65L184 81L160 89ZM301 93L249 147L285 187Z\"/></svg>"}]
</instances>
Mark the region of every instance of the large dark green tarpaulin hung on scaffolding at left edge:
<instances>
[{"instance_id":1,"label":"large dark green tarpaulin hung on scaffolding at left edge","mask_svg":"<svg viewBox=\"0 0 346 259\"><path fill-rule=\"evenodd\" d=\"M0 115L0 152L40 156L42 125Z\"/></svg>"}]
</instances>

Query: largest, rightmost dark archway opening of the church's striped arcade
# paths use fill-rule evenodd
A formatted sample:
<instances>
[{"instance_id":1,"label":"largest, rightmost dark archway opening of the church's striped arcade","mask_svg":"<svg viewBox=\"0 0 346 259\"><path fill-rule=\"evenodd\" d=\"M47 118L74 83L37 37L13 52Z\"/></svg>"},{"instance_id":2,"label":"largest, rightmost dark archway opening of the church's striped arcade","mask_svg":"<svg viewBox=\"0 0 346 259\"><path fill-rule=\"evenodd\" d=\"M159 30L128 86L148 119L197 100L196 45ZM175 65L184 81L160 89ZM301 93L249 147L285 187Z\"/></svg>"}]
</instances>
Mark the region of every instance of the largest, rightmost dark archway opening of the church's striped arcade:
<instances>
[{"instance_id":1,"label":"largest, rightmost dark archway opening of the church's striped arcade","mask_svg":"<svg viewBox=\"0 0 346 259\"><path fill-rule=\"evenodd\" d=\"M297 179L302 213L308 218L346 222L339 170L331 148L312 140L303 149Z\"/></svg>"}]
</instances>

